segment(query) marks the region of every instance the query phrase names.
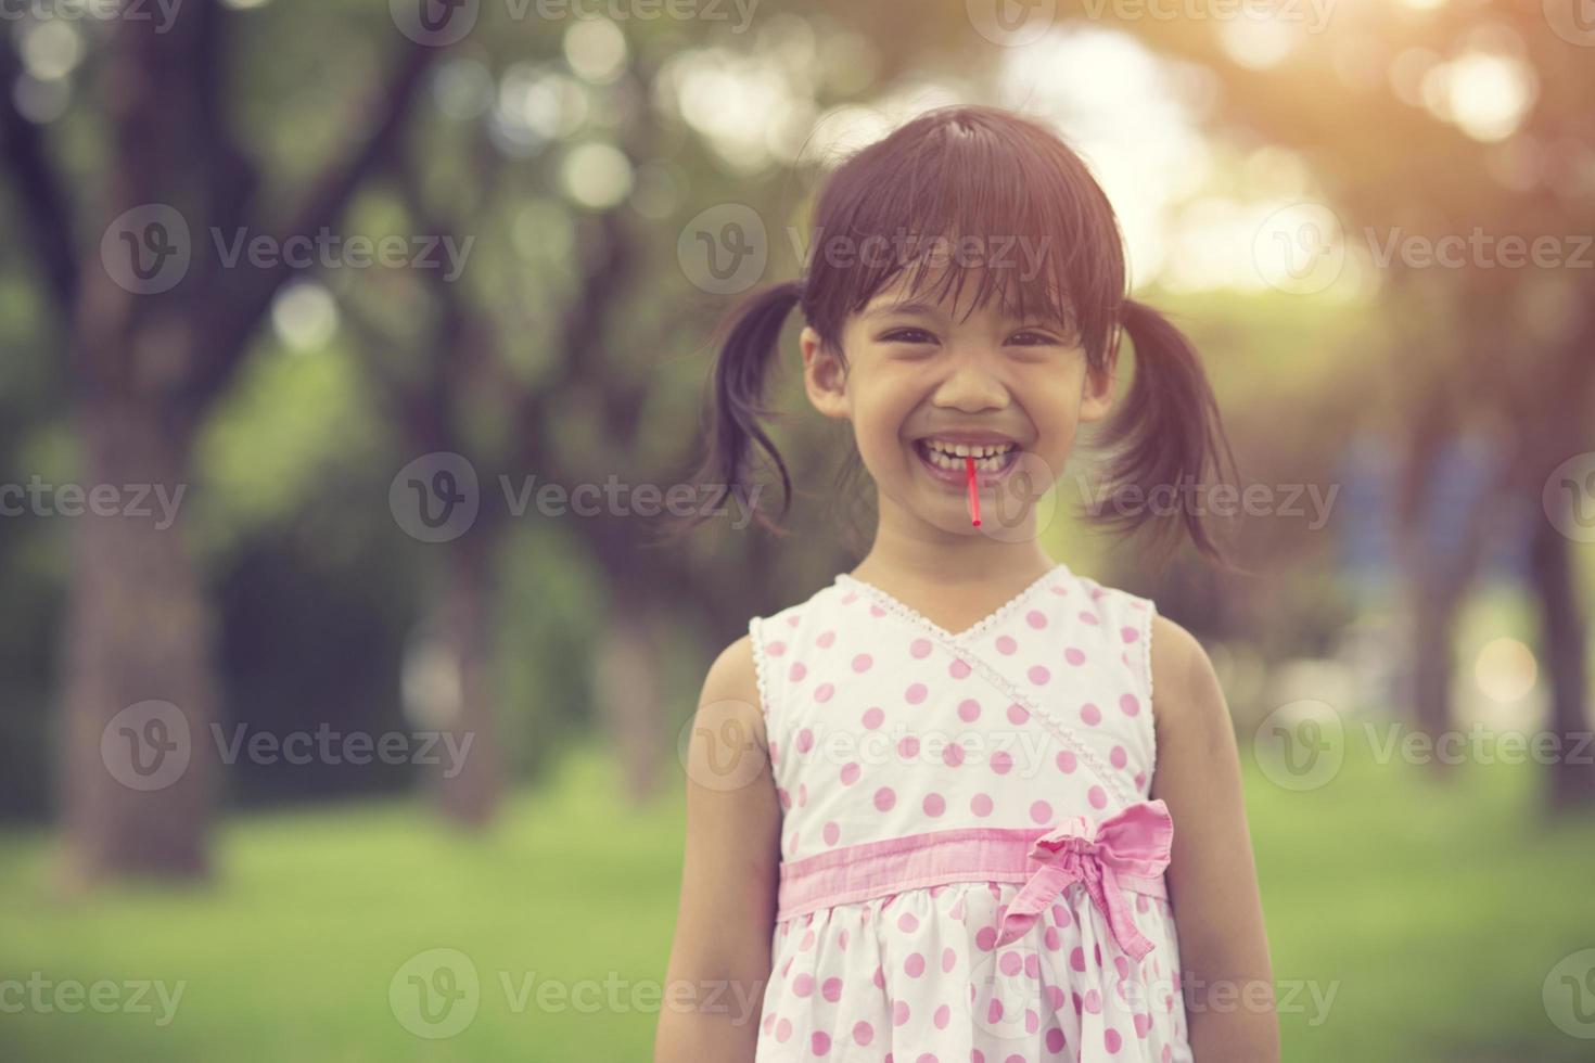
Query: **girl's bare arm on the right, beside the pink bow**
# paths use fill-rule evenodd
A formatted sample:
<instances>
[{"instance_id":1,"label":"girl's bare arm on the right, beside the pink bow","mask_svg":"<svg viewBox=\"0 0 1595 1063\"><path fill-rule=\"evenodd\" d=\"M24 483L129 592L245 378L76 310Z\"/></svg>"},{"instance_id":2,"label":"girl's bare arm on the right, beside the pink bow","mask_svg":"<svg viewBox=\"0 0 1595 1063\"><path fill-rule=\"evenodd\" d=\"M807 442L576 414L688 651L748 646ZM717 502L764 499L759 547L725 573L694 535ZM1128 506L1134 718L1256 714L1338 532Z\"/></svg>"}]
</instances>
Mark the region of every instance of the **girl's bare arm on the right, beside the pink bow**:
<instances>
[{"instance_id":1,"label":"girl's bare arm on the right, beside the pink bow","mask_svg":"<svg viewBox=\"0 0 1595 1063\"><path fill-rule=\"evenodd\" d=\"M1158 763L1152 795L1174 819L1169 900L1196 1063L1276 1063L1279 1017L1230 709L1201 644L1153 622Z\"/></svg>"}]
</instances>

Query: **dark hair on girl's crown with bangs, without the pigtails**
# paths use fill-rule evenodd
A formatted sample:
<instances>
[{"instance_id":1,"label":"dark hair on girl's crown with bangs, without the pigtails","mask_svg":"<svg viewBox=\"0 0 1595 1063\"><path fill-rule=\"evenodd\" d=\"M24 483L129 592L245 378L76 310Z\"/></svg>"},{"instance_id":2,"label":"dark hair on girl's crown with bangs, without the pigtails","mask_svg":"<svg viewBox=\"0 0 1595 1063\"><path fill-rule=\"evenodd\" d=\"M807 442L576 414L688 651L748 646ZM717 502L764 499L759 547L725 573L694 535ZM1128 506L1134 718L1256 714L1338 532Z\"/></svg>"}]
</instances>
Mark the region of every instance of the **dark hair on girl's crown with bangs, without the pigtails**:
<instances>
[{"instance_id":1,"label":"dark hair on girl's crown with bangs, without the pigtails","mask_svg":"<svg viewBox=\"0 0 1595 1063\"><path fill-rule=\"evenodd\" d=\"M1014 137L1011 116L998 131L967 108L931 112L841 167L815 218L818 316L839 330L893 285L900 301L951 296L965 316L995 298L1099 355L1124 288L1118 225L1056 134L1021 124Z\"/></svg>"}]
</instances>

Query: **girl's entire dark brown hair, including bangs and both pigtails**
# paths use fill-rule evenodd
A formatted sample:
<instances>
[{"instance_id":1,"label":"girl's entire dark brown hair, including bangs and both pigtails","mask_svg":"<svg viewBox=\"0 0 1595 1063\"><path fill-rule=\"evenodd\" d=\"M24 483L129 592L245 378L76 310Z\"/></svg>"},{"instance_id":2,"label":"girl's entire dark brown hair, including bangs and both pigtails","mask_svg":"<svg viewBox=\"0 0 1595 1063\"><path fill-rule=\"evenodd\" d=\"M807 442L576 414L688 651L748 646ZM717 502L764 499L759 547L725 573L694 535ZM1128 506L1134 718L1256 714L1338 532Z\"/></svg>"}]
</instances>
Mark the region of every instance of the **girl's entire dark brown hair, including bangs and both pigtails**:
<instances>
[{"instance_id":1,"label":"girl's entire dark brown hair, including bangs and both pigtails","mask_svg":"<svg viewBox=\"0 0 1595 1063\"><path fill-rule=\"evenodd\" d=\"M931 298L944 298L955 285L954 304L973 279L978 287L971 309L997 295L1019 317L1027 306L1050 311L1085 347L1093 371L1110 368L1121 331L1129 336L1136 376L1099 435L1112 451L1104 470L1105 500L1081 516L1121 532L1145 529L1163 555L1179 545L1183 531L1206 558L1227 564L1198 512L1179 505L1171 515L1147 505L1155 488L1203 484L1209 472L1222 477L1233 470L1235 457L1195 347L1158 311L1128 298L1123 237L1113 210L1085 163L1056 132L995 107L927 112L831 174L813 229L807 276L750 292L716 330L708 454L695 473L699 484L718 491L716 508L731 491L745 494L754 446L780 477L778 516L791 507L791 473L761 421L770 414L766 390L794 306L802 308L809 325L845 367L847 317L900 274L909 274L908 296L919 296L939 276ZM895 239L901 249L904 234L919 241L908 258L861 253L871 239L876 247ZM962 253L949 260L946 247L959 247L971 234L997 253L1003 241L1010 249L1018 241L1038 241L1045 265L1026 276L984 260L971 263ZM936 237L946 241L941 258L922 250ZM842 481L857 464L853 451ZM686 518L678 528L684 532L703 520ZM759 510L754 520L783 531Z\"/></svg>"}]
</instances>

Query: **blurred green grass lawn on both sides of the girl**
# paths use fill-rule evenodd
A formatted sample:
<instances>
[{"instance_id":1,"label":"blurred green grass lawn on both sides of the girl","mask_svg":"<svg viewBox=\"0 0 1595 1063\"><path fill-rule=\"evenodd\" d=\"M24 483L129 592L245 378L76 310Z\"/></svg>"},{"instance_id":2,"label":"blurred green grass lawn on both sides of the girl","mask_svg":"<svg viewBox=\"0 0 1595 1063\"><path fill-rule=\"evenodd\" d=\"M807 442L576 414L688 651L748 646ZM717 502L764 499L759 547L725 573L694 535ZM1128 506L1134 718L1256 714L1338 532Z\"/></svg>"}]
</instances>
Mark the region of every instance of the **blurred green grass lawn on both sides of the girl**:
<instances>
[{"instance_id":1,"label":"blurred green grass lawn on both sides of the girl","mask_svg":"<svg viewBox=\"0 0 1595 1063\"><path fill-rule=\"evenodd\" d=\"M1475 765L1445 784L1354 744L1319 790L1247 771L1276 977L1335 993L1317 1023L1305 991L1282 1017L1287 1060L1595 1053L1541 1002L1550 967L1595 947L1595 822L1542 826L1533 768ZM49 896L46 837L0 835L0 980L185 983L166 1026L0 1012L0 1060L651 1058L646 990L670 947L681 802L671 783L668 800L628 811L616 783L600 755L576 755L475 840L412 802L236 818L214 885L80 905ZM431 948L463 951L482 985L474 1022L448 1039L413 1036L388 999ZM515 991L534 979L523 1007L501 972ZM603 1007L539 1007L544 979L590 980Z\"/></svg>"}]
</instances>

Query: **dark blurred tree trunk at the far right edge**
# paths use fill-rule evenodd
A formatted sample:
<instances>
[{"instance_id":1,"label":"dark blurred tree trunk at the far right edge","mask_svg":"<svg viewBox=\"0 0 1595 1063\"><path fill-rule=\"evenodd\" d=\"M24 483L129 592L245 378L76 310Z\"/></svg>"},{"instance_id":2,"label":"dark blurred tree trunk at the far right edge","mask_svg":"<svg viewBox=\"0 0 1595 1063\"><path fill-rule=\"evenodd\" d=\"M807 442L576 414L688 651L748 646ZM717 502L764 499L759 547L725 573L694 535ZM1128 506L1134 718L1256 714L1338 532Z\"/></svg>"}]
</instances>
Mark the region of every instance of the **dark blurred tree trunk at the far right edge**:
<instances>
[{"instance_id":1,"label":"dark blurred tree trunk at the far right edge","mask_svg":"<svg viewBox=\"0 0 1595 1063\"><path fill-rule=\"evenodd\" d=\"M1557 496L1566 505L1566 496ZM1587 712L1589 673L1585 645L1589 628L1579 609L1568 539L1541 512L1534 497L1530 537L1530 582L1539 599L1539 647L1550 684L1550 732L1558 755L1549 765L1547 803L1550 811L1595 805L1595 765L1590 755Z\"/></svg>"}]
</instances>

